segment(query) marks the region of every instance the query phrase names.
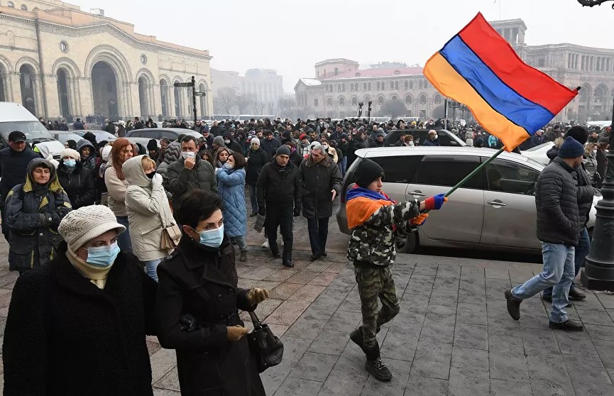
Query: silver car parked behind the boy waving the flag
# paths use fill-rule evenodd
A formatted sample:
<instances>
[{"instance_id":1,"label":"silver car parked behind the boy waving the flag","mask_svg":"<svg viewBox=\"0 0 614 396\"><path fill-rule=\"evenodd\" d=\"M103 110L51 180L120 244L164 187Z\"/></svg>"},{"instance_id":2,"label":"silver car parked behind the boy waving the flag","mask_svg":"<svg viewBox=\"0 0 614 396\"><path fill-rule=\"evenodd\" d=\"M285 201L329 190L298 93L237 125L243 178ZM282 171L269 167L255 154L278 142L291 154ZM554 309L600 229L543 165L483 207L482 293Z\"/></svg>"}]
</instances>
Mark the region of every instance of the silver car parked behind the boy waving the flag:
<instances>
[{"instance_id":1,"label":"silver car parked behind the boy waving the flag","mask_svg":"<svg viewBox=\"0 0 614 396\"><path fill-rule=\"evenodd\" d=\"M447 192L495 150L490 148L363 148L346 172L341 189L337 224L347 226L345 197L353 187L353 175L363 158L370 158L384 170L383 191L395 199L422 200ZM450 196L444 207L429 216L416 233L398 240L398 251L412 253L419 246L478 248L520 253L540 253L537 240L534 189L544 165L515 153L502 153L486 169ZM589 232L595 225L593 200Z\"/></svg>"}]
</instances>

